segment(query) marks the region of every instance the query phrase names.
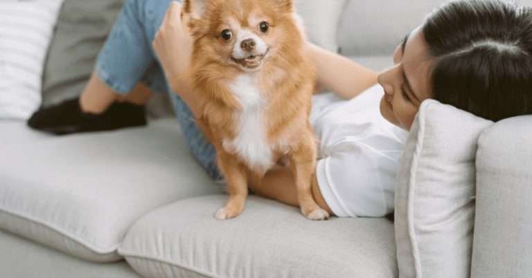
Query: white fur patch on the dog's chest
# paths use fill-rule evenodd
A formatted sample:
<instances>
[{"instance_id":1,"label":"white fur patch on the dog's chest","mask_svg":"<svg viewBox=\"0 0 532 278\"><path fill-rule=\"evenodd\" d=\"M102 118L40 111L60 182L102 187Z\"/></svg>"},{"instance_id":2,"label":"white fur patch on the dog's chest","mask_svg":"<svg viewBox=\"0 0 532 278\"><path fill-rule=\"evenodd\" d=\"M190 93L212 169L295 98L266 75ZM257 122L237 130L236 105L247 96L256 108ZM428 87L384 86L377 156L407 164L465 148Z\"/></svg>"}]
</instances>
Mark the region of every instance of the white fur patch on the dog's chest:
<instances>
[{"instance_id":1,"label":"white fur patch on the dog's chest","mask_svg":"<svg viewBox=\"0 0 532 278\"><path fill-rule=\"evenodd\" d=\"M242 105L235 112L237 133L233 140L224 140L224 149L236 153L254 169L266 170L272 166L272 149L267 140L266 121L263 118L264 100L258 88L257 75L240 75L229 85Z\"/></svg>"}]
</instances>

